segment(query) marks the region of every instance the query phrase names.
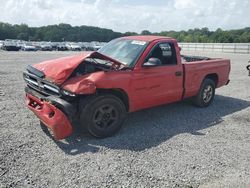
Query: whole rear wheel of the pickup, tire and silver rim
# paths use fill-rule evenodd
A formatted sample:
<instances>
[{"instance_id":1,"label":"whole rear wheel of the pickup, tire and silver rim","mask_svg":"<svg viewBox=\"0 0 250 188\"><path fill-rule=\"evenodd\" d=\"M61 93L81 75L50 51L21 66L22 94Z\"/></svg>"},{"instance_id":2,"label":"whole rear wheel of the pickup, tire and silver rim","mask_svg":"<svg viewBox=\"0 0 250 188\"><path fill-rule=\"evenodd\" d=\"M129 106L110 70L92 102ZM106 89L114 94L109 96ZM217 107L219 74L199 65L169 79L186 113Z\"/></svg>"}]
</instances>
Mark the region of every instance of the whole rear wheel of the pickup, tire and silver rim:
<instances>
[{"instance_id":1,"label":"whole rear wheel of the pickup, tire and silver rim","mask_svg":"<svg viewBox=\"0 0 250 188\"><path fill-rule=\"evenodd\" d=\"M198 95L193 98L193 103L198 107L207 107L213 100L215 95L215 83L213 80L206 78L201 84Z\"/></svg>"}]
</instances>

